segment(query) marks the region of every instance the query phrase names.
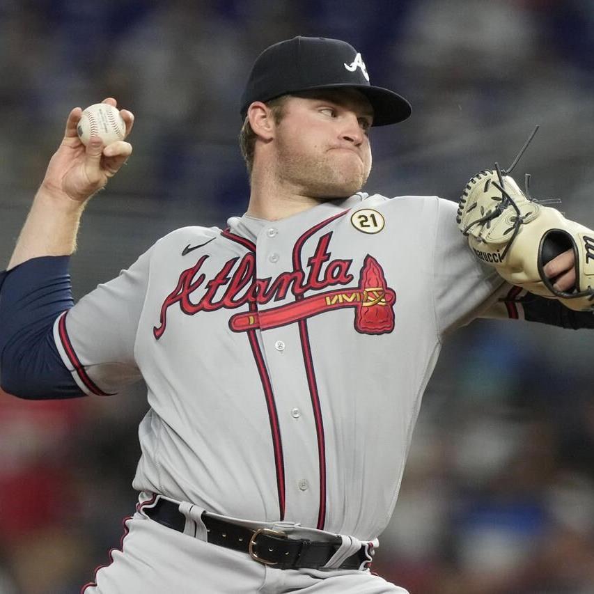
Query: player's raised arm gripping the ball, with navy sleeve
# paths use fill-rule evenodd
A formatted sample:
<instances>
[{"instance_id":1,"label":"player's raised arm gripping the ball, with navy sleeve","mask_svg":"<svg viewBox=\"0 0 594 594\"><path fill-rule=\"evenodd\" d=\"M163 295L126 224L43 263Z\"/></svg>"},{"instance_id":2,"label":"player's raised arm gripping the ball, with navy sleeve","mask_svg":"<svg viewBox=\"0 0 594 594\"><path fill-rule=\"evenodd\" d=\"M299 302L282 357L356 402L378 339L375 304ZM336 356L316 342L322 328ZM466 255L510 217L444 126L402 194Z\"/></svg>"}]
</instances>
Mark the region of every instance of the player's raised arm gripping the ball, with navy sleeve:
<instances>
[{"instance_id":1,"label":"player's raised arm gripping the ball, with navy sleeve","mask_svg":"<svg viewBox=\"0 0 594 594\"><path fill-rule=\"evenodd\" d=\"M113 99L105 102L116 104ZM134 118L121 112L130 132ZM68 256L81 213L132 153L124 141L84 146L77 136L81 109L70 112L6 272L0 273L0 384L22 398L82 396L54 341L54 322L73 306ZM114 351L115 352L115 351Z\"/></svg>"}]
</instances>

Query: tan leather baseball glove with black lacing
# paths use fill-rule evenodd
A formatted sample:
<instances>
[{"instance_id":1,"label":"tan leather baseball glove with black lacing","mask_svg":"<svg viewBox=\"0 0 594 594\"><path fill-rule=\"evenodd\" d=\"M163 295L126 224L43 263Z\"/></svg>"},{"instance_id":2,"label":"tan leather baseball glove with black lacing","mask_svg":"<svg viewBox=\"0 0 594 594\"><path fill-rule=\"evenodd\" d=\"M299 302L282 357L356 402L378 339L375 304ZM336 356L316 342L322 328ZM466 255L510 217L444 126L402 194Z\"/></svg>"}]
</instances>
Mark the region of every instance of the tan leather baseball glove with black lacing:
<instances>
[{"instance_id":1,"label":"tan leather baseball glove with black lacing","mask_svg":"<svg viewBox=\"0 0 594 594\"><path fill-rule=\"evenodd\" d=\"M476 256L508 283L576 311L594 310L594 231L529 198L513 178L477 173L460 196L456 221ZM575 287L559 291L542 268L568 249L575 254Z\"/></svg>"}]
</instances>

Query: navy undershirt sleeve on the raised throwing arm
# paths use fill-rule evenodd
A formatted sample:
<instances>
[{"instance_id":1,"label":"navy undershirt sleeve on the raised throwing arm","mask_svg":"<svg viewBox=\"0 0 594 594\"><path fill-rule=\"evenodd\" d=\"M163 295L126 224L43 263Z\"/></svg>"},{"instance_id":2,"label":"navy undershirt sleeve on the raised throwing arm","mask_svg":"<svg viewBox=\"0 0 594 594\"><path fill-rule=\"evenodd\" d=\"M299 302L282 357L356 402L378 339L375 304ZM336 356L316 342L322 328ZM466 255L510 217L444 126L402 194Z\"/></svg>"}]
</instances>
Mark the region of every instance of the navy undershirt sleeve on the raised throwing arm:
<instances>
[{"instance_id":1,"label":"navy undershirt sleeve on the raised throwing arm","mask_svg":"<svg viewBox=\"0 0 594 594\"><path fill-rule=\"evenodd\" d=\"M85 396L53 335L58 315L74 305L69 262L43 256L0 272L0 385L19 398Z\"/></svg>"}]
</instances>

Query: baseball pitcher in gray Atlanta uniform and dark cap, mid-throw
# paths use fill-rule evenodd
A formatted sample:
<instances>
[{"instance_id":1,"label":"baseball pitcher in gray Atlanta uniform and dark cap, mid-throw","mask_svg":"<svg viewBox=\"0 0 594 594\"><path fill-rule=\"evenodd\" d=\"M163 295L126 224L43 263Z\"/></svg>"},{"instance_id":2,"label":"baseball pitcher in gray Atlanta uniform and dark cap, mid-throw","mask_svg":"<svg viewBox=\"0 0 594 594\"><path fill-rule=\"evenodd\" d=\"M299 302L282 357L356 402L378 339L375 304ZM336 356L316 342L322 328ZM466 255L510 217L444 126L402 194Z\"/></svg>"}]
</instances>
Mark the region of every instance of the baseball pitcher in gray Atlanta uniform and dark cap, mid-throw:
<instances>
[{"instance_id":1,"label":"baseball pitcher in gray Atlanta uniform and dark cap, mid-throw","mask_svg":"<svg viewBox=\"0 0 594 594\"><path fill-rule=\"evenodd\" d=\"M73 306L81 211L132 148L85 148L72 110L0 279L3 389L104 397L146 382L139 503L85 594L405 592L369 566L444 334L497 311L593 316L503 281L454 203L361 192L370 127L411 110L346 42L269 47L240 111L247 212L173 231ZM545 267L559 290L574 258Z\"/></svg>"}]
</instances>

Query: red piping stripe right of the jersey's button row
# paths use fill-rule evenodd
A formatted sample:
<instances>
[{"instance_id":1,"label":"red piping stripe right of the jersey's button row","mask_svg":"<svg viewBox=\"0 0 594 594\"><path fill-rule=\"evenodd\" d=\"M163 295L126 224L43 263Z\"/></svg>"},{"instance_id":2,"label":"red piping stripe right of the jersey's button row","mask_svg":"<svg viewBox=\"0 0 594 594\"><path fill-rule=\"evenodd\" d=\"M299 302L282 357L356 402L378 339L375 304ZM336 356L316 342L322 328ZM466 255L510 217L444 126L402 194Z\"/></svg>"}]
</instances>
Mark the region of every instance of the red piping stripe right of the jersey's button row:
<instances>
[{"instance_id":1,"label":"red piping stripe right of the jersey's button row","mask_svg":"<svg viewBox=\"0 0 594 594\"><path fill-rule=\"evenodd\" d=\"M348 210L343 210L335 214L334 217L325 219L299 237L293 248L293 269L302 270L301 265L301 251L306 240L314 233L325 227L339 217L343 217ZM303 295L295 295L295 301L303 299ZM311 345L309 343L309 336L307 331L307 320L299 320L299 337L301 338L301 345L303 351L303 360L305 364L305 373L307 376L307 384L309 387L309 395L311 398L311 407L313 409L313 418L315 420L315 434L318 437L318 464L320 471L320 506L318 508L318 530L324 529L326 523L326 441L324 436L324 422L322 417L322 407L320 405L320 394L318 392L318 383L315 380L315 369L313 366L313 357L311 356Z\"/></svg>"}]
</instances>

